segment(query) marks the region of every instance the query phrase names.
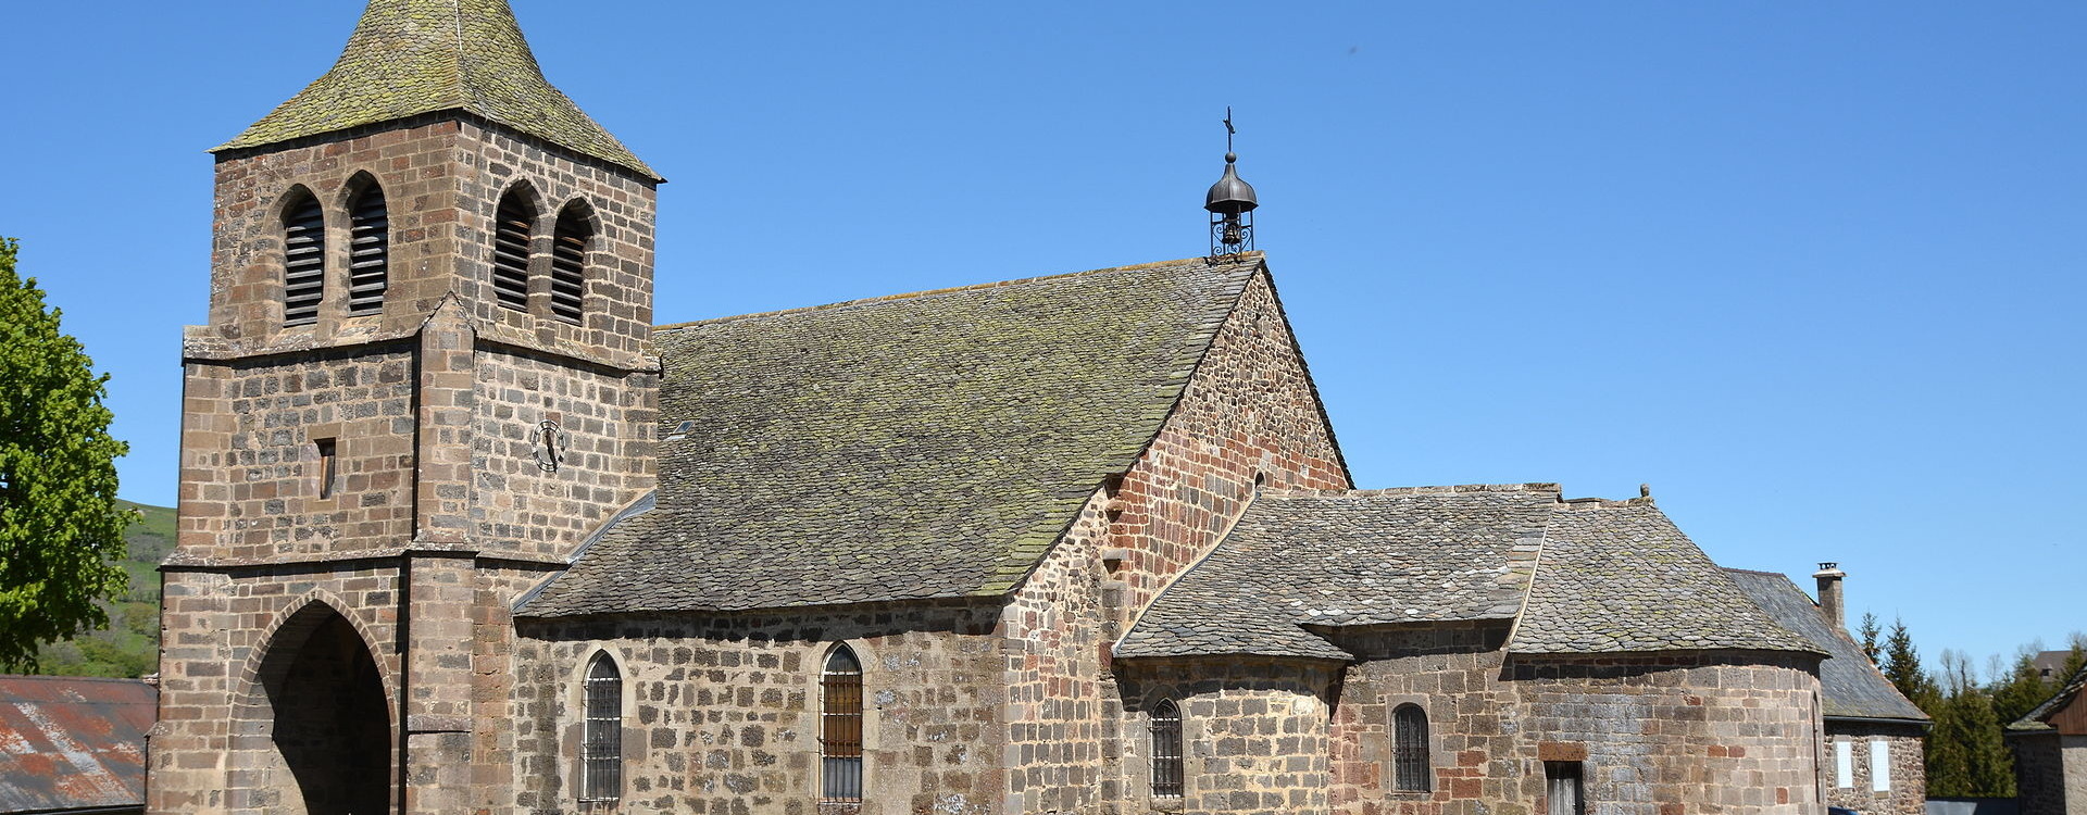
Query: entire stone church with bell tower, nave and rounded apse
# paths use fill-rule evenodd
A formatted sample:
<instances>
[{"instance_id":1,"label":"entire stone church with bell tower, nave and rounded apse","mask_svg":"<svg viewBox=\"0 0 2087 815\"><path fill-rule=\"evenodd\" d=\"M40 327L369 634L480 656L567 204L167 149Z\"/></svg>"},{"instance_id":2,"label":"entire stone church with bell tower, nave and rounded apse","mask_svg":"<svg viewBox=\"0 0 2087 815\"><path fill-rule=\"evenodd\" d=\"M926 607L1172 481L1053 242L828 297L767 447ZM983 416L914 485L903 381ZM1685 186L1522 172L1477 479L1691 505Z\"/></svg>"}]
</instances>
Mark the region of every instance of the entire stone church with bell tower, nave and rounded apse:
<instances>
[{"instance_id":1,"label":"entire stone church with bell tower, nave and rounded apse","mask_svg":"<svg viewBox=\"0 0 2087 815\"><path fill-rule=\"evenodd\" d=\"M1231 236L655 325L505 0L215 173L152 813L1824 813L1818 644L1649 496L1357 490Z\"/></svg>"}]
</instances>

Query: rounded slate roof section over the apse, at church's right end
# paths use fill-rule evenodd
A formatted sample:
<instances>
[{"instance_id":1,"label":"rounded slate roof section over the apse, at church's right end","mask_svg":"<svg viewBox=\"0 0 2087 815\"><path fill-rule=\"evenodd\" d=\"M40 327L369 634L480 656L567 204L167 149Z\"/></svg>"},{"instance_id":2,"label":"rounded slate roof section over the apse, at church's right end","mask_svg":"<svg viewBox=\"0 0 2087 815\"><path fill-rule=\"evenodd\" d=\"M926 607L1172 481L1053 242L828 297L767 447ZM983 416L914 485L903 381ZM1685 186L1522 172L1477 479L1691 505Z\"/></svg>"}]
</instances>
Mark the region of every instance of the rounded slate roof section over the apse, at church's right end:
<instances>
[{"instance_id":1,"label":"rounded slate roof section over the apse, at church's right end","mask_svg":"<svg viewBox=\"0 0 2087 815\"><path fill-rule=\"evenodd\" d=\"M1822 652L1755 607L1651 498L1557 507L1507 650L1703 648Z\"/></svg>"}]
</instances>

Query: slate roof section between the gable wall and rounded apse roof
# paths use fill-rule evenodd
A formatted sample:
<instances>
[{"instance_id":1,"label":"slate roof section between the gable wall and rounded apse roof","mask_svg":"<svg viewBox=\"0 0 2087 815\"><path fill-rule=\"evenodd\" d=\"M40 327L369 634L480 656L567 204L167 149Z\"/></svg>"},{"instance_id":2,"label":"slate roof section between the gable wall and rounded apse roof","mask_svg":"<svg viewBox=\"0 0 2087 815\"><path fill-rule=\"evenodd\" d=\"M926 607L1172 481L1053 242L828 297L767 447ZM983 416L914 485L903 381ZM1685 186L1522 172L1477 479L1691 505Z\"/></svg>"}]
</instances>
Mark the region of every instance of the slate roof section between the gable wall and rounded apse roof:
<instances>
[{"instance_id":1,"label":"slate roof section between the gable wall and rounded apse roof","mask_svg":"<svg viewBox=\"0 0 2087 815\"><path fill-rule=\"evenodd\" d=\"M1265 492L1117 657L1350 659L1304 625L1511 619L1555 486Z\"/></svg>"}]
</instances>

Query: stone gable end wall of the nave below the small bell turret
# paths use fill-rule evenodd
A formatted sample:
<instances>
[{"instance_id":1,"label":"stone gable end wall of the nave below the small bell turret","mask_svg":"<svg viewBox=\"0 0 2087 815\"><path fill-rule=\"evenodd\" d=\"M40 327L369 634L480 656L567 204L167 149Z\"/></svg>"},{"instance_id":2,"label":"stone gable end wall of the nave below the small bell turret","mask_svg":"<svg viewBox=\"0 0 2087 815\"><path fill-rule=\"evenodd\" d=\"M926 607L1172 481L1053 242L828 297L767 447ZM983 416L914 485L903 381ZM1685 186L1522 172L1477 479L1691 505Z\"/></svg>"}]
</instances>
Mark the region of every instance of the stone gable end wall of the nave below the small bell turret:
<instances>
[{"instance_id":1,"label":"stone gable end wall of the nave below the small bell turret","mask_svg":"<svg viewBox=\"0 0 2087 815\"><path fill-rule=\"evenodd\" d=\"M1002 615L1004 813L1096 811L1146 794L1121 755L1125 727L1142 727L1144 713L1125 711L1108 648L1217 546L1246 511L1256 475L1269 488L1350 486L1265 271L1240 294L1121 490L1096 492ZM1123 559L1108 565L1104 554Z\"/></svg>"}]
</instances>

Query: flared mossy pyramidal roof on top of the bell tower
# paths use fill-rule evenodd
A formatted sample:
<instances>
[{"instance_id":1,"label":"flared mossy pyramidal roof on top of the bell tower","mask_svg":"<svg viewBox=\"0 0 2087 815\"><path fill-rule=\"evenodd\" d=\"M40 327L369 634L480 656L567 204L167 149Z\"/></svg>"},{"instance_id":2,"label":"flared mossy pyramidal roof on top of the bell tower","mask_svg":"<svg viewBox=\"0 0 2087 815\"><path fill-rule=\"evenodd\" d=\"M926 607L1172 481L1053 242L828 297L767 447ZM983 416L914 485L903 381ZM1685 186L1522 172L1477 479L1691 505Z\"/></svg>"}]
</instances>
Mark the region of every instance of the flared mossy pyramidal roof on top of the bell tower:
<instances>
[{"instance_id":1,"label":"flared mossy pyramidal roof on top of the bell tower","mask_svg":"<svg viewBox=\"0 0 2087 815\"><path fill-rule=\"evenodd\" d=\"M332 71L211 152L463 110L659 179L543 79L507 0L369 0Z\"/></svg>"}]
</instances>

